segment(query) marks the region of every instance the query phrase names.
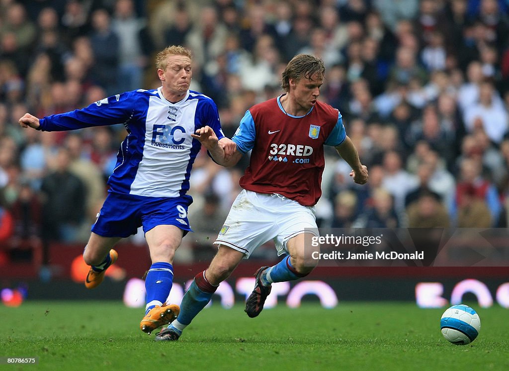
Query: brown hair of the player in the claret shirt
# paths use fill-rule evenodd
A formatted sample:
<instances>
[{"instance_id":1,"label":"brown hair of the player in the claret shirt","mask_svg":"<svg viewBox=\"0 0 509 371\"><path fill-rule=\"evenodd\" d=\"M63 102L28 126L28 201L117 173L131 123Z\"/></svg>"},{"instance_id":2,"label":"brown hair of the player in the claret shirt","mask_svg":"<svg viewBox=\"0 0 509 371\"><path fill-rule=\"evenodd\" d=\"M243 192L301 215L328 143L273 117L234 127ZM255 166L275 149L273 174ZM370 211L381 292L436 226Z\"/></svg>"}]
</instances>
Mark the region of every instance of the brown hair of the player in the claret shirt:
<instances>
[{"instance_id":1,"label":"brown hair of the player in the claret shirt","mask_svg":"<svg viewBox=\"0 0 509 371\"><path fill-rule=\"evenodd\" d=\"M318 74L319 79L323 79L325 74L325 66L320 58L311 54L295 55L281 74L281 88L290 91L290 79L298 81L302 77L311 79Z\"/></svg>"}]
</instances>

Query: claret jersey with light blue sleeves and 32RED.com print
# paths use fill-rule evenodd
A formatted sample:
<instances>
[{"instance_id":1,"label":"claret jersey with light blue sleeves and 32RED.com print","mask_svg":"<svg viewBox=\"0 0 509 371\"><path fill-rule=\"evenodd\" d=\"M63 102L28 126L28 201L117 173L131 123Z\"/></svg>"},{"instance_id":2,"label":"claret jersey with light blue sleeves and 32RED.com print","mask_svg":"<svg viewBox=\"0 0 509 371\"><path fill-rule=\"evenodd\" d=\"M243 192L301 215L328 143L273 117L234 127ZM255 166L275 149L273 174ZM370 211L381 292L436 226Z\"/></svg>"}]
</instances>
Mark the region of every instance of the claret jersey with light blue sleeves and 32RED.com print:
<instances>
[{"instance_id":1,"label":"claret jersey with light blue sleeves and 32RED.com print","mask_svg":"<svg viewBox=\"0 0 509 371\"><path fill-rule=\"evenodd\" d=\"M251 107L232 138L239 151L252 150L240 185L313 206L322 194L323 146L343 143L343 119L337 109L320 101L304 116L288 115L279 99Z\"/></svg>"}]
</instances>

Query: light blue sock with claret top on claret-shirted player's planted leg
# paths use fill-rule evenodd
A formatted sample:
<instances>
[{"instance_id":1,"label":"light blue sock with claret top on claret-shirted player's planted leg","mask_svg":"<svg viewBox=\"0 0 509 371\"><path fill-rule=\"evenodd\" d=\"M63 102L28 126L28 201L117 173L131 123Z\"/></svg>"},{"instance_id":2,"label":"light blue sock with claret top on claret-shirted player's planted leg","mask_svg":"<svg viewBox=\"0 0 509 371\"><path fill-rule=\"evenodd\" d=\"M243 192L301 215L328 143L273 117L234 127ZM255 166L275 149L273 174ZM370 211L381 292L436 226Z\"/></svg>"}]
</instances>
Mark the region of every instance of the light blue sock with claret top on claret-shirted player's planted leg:
<instances>
[{"instance_id":1,"label":"light blue sock with claret top on claret-shirted player's planted leg","mask_svg":"<svg viewBox=\"0 0 509 371\"><path fill-rule=\"evenodd\" d=\"M213 286L207 281L205 278L205 271L198 273L194 277L191 286L187 289L180 304L180 313L176 320L176 325L180 325L178 326L180 332L182 332L184 327L189 325L194 317L207 305L210 298L212 298L212 294L217 290L217 287L218 286Z\"/></svg>"}]
</instances>

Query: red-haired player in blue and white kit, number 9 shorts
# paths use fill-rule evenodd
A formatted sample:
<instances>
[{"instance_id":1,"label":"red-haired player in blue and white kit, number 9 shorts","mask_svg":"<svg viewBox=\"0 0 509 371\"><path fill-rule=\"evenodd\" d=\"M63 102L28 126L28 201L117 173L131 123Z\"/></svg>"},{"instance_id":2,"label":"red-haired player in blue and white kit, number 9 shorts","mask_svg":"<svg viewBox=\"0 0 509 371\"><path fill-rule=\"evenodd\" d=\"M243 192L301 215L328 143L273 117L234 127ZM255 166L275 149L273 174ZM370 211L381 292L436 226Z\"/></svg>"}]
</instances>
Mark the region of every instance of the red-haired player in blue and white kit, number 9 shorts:
<instances>
[{"instance_id":1,"label":"red-haired player in blue and white kit, number 9 shorts","mask_svg":"<svg viewBox=\"0 0 509 371\"><path fill-rule=\"evenodd\" d=\"M91 266L85 286L93 289L102 282L105 270L118 258L112 247L143 226L152 265L145 280L147 305L140 329L148 333L179 313L178 305L165 301L173 286L175 251L191 231L187 209L192 197L186 192L194 159L202 145L219 164L236 150L234 142L222 134L215 103L189 90L190 51L168 46L157 54L156 67L161 80L158 89L118 94L40 120L30 113L19 119L24 128L44 131L125 126L127 136L108 179L108 196L83 251L84 261ZM207 137L201 137L204 133Z\"/></svg>"}]
</instances>

